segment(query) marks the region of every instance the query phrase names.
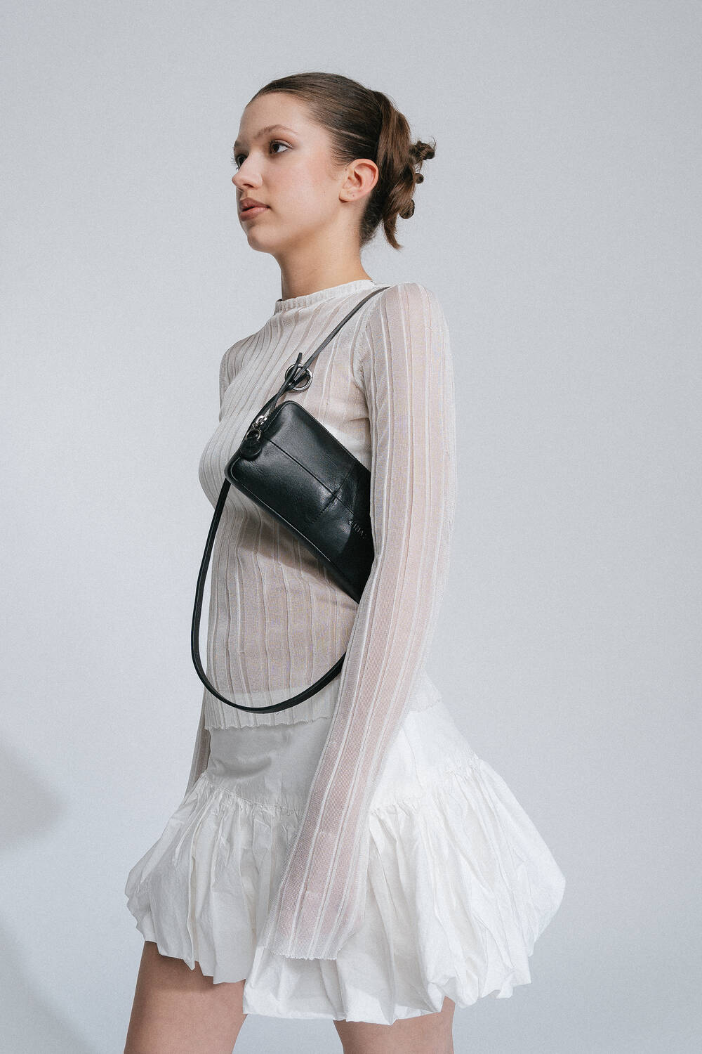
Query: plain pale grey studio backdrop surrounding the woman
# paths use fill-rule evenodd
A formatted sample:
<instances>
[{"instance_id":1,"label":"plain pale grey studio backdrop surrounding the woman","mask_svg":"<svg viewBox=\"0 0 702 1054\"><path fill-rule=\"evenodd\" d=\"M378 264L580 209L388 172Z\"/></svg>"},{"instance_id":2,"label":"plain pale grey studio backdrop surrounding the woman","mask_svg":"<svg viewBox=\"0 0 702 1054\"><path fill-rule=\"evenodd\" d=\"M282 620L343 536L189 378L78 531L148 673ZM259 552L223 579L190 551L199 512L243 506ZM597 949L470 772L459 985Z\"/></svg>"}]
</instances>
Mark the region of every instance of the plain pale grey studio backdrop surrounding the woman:
<instances>
[{"instance_id":1,"label":"plain pale grey studio backdrop surrounding the woman","mask_svg":"<svg viewBox=\"0 0 702 1054\"><path fill-rule=\"evenodd\" d=\"M457 1009L456 1050L697 1050L699 3L6 11L3 1050L122 1051L123 886L202 695L198 460L221 356L280 296L229 155L255 91L305 70L437 140L404 250L363 256L452 333L429 674L566 877L533 983ZM330 1021L249 1017L237 1052L288 1047L340 1050Z\"/></svg>"}]
</instances>

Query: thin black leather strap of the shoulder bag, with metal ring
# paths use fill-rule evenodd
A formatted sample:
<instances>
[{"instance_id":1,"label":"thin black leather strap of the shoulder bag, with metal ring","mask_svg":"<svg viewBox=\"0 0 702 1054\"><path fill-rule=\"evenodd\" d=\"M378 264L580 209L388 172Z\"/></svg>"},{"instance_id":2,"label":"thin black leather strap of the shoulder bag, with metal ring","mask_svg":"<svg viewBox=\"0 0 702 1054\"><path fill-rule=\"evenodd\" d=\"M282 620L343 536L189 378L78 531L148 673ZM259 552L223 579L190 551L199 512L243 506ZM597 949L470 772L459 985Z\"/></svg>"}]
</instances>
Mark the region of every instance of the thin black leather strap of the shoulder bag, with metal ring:
<instances>
[{"instance_id":1,"label":"thin black leather strap of the shoulder bag, with metal ring","mask_svg":"<svg viewBox=\"0 0 702 1054\"><path fill-rule=\"evenodd\" d=\"M357 304L356 307L353 308L348 312L348 314L345 315L344 318L341 319L338 326L335 326L329 335L325 337L325 339L320 344L319 348L317 348L317 350L313 352L313 354L309 356L306 363L301 362L302 352L299 353L293 366L289 366L285 370L285 380L281 385L280 389L273 396L273 398L268 399L268 402L261 407L258 414L256 415L252 424L248 426L246 434L248 434L248 432L252 431L252 429L258 429L261 427L261 425L266 421L268 415L273 412L274 407L276 406L278 399L286 391L290 390L304 391L306 388L309 387L309 385L312 384L312 373L309 372L308 367L314 363L319 353L323 351L324 348L326 348L329 340L332 340L337 335L341 327L344 326L348 321L348 319L356 314L359 308L363 307L366 300L369 300L372 296L377 296L378 293L382 293L383 290L388 288L389 288L388 286L381 286L380 289L374 289L373 292L368 293L367 296L364 296L363 299L359 304ZM304 380L304 384L300 385L301 380ZM254 713L254 714L273 714L276 710L284 710L290 706L295 706L297 703L302 703L304 702L305 699L308 699L310 696L314 696L318 691L320 691L326 684L329 683L329 681L334 680L337 674L339 674L343 665L343 661L346 658L346 652L344 651L341 659L338 659L337 662L334 664L334 666L332 666L332 668L328 669L326 674L320 677L318 681L315 681L315 683L310 685L310 687L305 688L303 691L300 691L297 696L293 696L290 699L284 699L280 703L273 703L270 706L243 706L241 703L234 703L230 699L226 699L224 696L222 696L214 686L214 684L210 683L210 681L207 678L207 675L205 674L202 667L202 661L200 659L200 613L202 609L202 597L204 593L205 579L207 577L207 568L209 566L212 550L215 544L215 535L217 533L217 528L219 526L222 512L224 511L224 503L226 502L226 495L228 493L230 486L232 484L225 477L224 483L222 484L222 489L219 492L217 505L215 506L215 513L213 515L212 523L209 525L207 541L205 543L204 553L202 555L202 561L200 563L200 571L198 574L198 582L195 590L195 607L193 609L193 623L190 627L190 653L193 656L193 664L195 666L198 677L205 685L205 687L213 694L213 696L216 696L217 699L220 699L223 703L226 703L228 706L236 707L238 710L246 710L248 713Z\"/></svg>"}]
</instances>

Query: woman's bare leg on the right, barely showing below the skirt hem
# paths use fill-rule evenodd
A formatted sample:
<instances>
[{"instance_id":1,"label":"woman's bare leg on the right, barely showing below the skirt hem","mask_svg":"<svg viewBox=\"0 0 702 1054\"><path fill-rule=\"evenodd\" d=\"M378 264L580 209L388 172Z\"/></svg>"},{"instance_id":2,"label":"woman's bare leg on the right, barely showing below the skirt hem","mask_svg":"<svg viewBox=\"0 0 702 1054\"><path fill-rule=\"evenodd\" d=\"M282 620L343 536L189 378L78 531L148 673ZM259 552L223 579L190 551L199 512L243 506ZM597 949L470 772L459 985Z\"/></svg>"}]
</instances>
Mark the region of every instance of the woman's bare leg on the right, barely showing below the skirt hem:
<instances>
[{"instance_id":1,"label":"woman's bare leg on the right, barely showing below the skirt hem","mask_svg":"<svg viewBox=\"0 0 702 1054\"><path fill-rule=\"evenodd\" d=\"M448 996L437 1014L407 1017L393 1024L335 1021L344 1054L454 1054L456 1003Z\"/></svg>"}]
</instances>

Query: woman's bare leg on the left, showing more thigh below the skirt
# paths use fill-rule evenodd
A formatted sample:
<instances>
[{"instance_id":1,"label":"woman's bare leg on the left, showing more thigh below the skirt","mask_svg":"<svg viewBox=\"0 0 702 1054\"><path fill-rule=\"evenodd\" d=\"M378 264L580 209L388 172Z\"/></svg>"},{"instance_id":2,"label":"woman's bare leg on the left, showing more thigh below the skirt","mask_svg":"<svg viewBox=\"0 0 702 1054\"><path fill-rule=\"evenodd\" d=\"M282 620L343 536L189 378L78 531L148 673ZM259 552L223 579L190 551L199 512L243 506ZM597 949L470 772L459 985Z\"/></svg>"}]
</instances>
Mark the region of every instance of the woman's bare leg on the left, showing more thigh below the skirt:
<instances>
[{"instance_id":1,"label":"woman's bare leg on the left, showing more thigh below the skirt","mask_svg":"<svg viewBox=\"0 0 702 1054\"><path fill-rule=\"evenodd\" d=\"M244 983L215 984L199 963L190 970L144 941L124 1054L232 1054Z\"/></svg>"}]
</instances>

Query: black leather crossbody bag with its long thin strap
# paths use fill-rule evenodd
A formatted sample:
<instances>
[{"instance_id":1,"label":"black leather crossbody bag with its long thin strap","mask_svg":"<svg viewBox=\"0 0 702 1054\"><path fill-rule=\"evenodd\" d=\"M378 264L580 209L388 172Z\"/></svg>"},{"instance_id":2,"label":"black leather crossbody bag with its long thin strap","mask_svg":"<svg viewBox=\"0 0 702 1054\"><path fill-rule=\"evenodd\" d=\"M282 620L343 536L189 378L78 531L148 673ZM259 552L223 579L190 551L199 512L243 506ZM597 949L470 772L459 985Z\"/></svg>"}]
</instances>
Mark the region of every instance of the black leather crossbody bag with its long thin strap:
<instances>
[{"instance_id":1,"label":"black leather crossbody bag with its long thin strap","mask_svg":"<svg viewBox=\"0 0 702 1054\"><path fill-rule=\"evenodd\" d=\"M272 706L243 706L222 696L209 682L200 660L200 612L215 534L229 487L275 516L326 567L356 603L361 599L374 560L370 532L370 472L299 403L276 406L286 391L304 391L312 384L309 366L342 326L366 300L387 286L374 289L342 318L319 348L302 363L302 352L285 370L278 392L261 407L241 445L224 469L224 483L215 506L195 592L190 652L198 677L213 696L228 706L270 714L304 702L340 671L346 652L313 685Z\"/></svg>"}]
</instances>

